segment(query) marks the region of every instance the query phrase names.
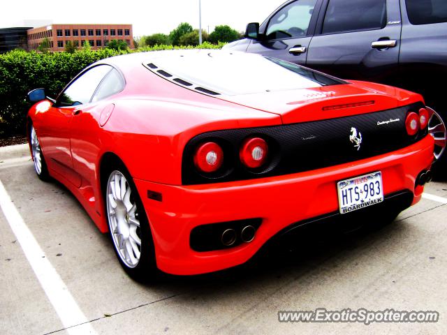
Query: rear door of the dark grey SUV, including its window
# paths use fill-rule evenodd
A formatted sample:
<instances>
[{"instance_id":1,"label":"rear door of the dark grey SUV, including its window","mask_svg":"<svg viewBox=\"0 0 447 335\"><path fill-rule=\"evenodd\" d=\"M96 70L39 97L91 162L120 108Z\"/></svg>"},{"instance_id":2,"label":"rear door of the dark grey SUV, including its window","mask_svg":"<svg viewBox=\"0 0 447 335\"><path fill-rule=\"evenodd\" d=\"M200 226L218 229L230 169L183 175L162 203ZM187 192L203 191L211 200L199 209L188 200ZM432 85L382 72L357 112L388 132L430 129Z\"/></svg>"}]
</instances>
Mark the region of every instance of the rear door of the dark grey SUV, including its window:
<instances>
[{"instance_id":1,"label":"rear door of the dark grey SUV, including its window","mask_svg":"<svg viewBox=\"0 0 447 335\"><path fill-rule=\"evenodd\" d=\"M344 79L393 84L402 29L395 5L395 0L325 0L307 66Z\"/></svg>"}]
</instances>

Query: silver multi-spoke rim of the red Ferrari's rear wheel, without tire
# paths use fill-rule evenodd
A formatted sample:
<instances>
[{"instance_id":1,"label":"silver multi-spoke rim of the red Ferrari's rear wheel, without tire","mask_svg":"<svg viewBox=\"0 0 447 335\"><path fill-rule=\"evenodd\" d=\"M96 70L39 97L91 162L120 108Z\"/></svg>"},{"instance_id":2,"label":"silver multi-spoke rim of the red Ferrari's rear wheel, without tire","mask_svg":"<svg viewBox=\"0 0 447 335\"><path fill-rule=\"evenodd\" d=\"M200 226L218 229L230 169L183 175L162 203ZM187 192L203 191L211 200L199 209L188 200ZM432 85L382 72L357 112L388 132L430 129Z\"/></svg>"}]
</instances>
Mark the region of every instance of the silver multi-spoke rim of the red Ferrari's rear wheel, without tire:
<instances>
[{"instance_id":1,"label":"silver multi-spoke rim of the red Ferrari's rear wheel, without tire","mask_svg":"<svg viewBox=\"0 0 447 335\"><path fill-rule=\"evenodd\" d=\"M127 267L138 265L141 255L140 221L132 190L124 174L115 170L107 184L107 215L113 243Z\"/></svg>"}]
</instances>

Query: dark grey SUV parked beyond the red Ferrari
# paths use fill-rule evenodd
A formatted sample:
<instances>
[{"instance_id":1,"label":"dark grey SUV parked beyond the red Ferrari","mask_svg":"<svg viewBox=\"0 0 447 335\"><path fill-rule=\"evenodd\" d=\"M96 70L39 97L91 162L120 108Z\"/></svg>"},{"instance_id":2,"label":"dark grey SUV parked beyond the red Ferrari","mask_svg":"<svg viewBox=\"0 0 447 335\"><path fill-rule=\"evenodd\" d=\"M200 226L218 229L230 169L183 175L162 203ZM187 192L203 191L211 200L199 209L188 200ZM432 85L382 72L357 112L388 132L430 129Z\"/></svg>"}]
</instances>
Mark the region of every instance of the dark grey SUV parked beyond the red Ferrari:
<instances>
[{"instance_id":1,"label":"dark grey SUV parked beyond the red Ferrari","mask_svg":"<svg viewBox=\"0 0 447 335\"><path fill-rule=\"evenodd\" d=\"M226 48L416 91L447 121L446 0L287 1ZM439 156L446 127L434 115L430 128Z\"/></svg>"}]
</instances>

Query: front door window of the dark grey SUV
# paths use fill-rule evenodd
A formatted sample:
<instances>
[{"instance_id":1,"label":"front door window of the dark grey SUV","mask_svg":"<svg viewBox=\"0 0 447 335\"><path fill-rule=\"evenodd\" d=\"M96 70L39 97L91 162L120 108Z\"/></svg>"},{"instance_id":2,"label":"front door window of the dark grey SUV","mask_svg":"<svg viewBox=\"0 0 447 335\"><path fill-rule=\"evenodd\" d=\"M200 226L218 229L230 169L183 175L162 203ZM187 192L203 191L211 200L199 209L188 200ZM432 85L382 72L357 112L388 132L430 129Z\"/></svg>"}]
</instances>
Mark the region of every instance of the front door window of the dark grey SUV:
<instances>
[{"instance_id":1,"label":"front door window of the dark grey SUV","mask_svg":"<svg viewBox=\"0 0 447 335\"><path fill-rule=\"evenodd\" d=\"M316 0L298 0L278 11L268 24L268 39L295 38L307 35Z\"/></svg>"}]
</instances>

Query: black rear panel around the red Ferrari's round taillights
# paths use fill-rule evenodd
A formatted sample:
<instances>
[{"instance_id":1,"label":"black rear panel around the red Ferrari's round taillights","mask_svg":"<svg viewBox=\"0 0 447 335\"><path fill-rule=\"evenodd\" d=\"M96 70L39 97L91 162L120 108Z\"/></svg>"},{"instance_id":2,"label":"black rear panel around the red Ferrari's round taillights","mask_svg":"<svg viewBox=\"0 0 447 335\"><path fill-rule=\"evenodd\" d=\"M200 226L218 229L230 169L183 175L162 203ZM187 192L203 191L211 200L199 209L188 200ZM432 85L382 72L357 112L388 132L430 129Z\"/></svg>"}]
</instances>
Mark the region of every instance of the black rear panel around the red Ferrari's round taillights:
<instances>
[{"instance_id":1,"label":"black rear panel around the red Ferrari's round taillights","mask_svg":"<svg viewBox=\"0 0 447 335\"><path fill-rule=\"evenodd\" d=\"M182 182L207 184L303 172L402 149L427 135L424 131L410 137L405 129L406 114L420 107L422 103L353 117L203 133L186 144ZM356 128L356 137L361 134L360 149L350 140L351 128ZM270 161L251 171L240 163L239 148L245 138L254 135L268 142ZM207 141L220 144L224 153L223 167L211 175L200 174L193 164L194 151Z\"/></svg>"}]
</instances>

